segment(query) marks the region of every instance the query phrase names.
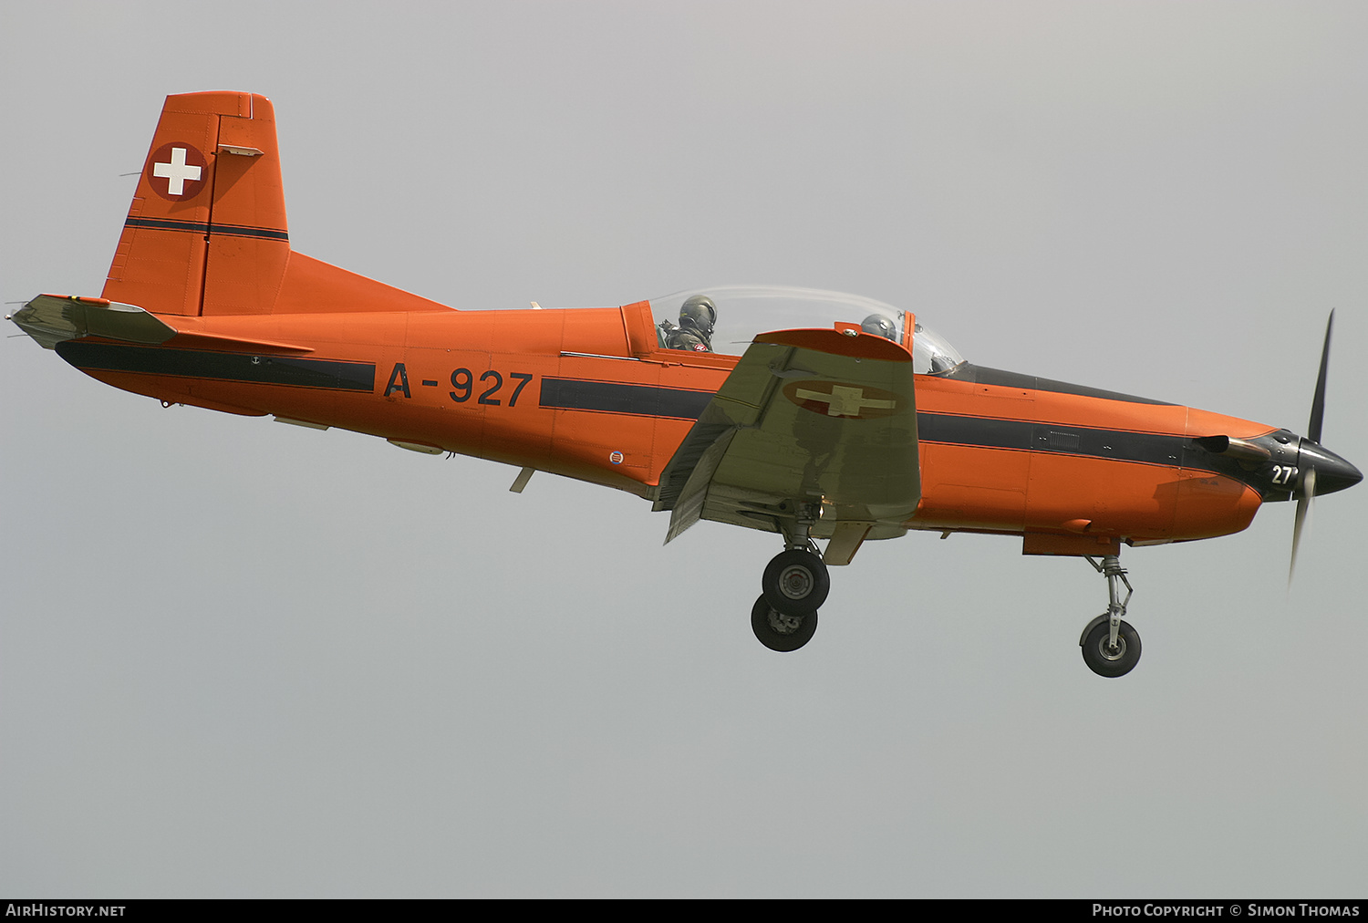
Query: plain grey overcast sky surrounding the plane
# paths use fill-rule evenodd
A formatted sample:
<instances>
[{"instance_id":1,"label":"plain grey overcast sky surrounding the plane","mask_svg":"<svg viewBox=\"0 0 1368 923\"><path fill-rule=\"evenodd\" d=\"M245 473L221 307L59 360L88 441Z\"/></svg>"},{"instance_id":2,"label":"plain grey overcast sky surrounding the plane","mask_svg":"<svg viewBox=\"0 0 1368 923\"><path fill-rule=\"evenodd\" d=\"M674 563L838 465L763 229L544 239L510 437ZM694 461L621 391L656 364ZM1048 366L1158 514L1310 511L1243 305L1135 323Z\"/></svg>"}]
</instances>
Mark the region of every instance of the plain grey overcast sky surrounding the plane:
<instances>
[{"instance_id":1,"label":"plain grey overcast sky surrounding the plane","mask_svg":"<svg viewBox=\"0 0 1368 923\"><path fill-rule=\"evenodd\" d=\"M167 93L291 243L456 308L855 291L967 358L1368 462L1361 3L0 5L0 289L98 294ZM11 308L12 309L12 308ZM7 325L10 332L19 331ZM0 893L1364 896L1368 488L1127 550L770 536L105 387L0 340Z\"/></svg>"}]
</instances>

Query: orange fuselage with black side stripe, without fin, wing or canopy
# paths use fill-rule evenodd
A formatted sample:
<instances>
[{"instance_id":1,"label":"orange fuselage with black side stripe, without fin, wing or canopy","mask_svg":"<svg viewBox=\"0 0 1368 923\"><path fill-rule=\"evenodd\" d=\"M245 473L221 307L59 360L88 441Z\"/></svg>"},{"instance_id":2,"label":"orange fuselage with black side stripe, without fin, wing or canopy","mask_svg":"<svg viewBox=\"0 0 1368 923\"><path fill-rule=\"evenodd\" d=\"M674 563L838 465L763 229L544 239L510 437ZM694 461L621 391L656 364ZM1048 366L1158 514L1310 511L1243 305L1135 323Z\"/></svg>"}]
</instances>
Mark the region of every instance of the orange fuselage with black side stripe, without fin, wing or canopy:
<instances>
[{"instance_id":1,"label":"orange fuselage with black side stripe, without fin, wing or canopy","mask_svg":"<svg viewBox=\"0 0 1368 923\"><path fill-rule=\"evenodd\" d=\"M737 361L659 349L644 302L338 317L194 321L272 351L179 345L196 334L161 346L83 338L57 351L168 403L353 429L647 498ZM1297 438L1265 424L967 364L917 376L917 406L922 500L906 526L1023 533L1029 552L1238 532L1263 499L1286 499L1297 464ZM1211 433L1272 451L1253 465L1193 443Z\"/></svg>"}]
</instances>

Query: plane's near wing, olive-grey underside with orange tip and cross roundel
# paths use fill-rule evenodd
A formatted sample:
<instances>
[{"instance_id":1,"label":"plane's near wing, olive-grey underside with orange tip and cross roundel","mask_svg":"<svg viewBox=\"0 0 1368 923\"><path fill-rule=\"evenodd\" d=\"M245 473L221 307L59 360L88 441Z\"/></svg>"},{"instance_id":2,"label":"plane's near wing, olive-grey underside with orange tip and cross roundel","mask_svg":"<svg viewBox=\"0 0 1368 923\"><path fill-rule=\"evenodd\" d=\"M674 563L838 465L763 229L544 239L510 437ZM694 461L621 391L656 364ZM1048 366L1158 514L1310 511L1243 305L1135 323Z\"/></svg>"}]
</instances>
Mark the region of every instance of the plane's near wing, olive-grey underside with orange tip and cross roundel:
<instances>
[{"instance_id":1,"label":"plane's near wing, olive-grey underside with orange tip and cross roundel","mask_svg":"<svg viewBox=\"0 0 1368 923\"><path fill-rule=\"evenodd\" d=\"M762 334L661 476L666 541L698 520L793 533L804 505L828 563L902 535L921 499L911 354L843 330Z\"/></svg>"}]
</instances>

